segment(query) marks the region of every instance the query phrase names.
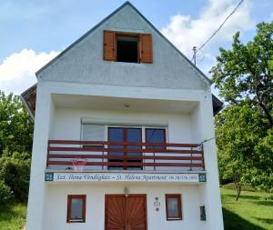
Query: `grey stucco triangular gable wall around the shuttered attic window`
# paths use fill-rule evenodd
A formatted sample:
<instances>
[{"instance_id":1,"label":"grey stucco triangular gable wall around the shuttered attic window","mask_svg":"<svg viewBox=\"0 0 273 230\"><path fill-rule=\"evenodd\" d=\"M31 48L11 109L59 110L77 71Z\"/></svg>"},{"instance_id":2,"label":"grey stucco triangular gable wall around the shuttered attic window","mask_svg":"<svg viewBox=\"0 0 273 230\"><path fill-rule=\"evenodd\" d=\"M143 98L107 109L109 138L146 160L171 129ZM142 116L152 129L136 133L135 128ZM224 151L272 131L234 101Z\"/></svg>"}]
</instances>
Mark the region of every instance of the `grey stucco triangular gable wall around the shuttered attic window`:
<instances>
[{"instance_id":1,"label":"grey stucco triangular gable wall around the shuttered attic window","mask_svg":"<svg viewBox=\"0 0 273 230\"><path fill-rule=\"evenodd\" d=\"M148 33L153 37L153 64L117 63L103 60L103 31ZM70 48L38 75L46 81L101 85L206 89L207 80L145 19L125 5L115 15Z\"/></svg>"}]
</instances>

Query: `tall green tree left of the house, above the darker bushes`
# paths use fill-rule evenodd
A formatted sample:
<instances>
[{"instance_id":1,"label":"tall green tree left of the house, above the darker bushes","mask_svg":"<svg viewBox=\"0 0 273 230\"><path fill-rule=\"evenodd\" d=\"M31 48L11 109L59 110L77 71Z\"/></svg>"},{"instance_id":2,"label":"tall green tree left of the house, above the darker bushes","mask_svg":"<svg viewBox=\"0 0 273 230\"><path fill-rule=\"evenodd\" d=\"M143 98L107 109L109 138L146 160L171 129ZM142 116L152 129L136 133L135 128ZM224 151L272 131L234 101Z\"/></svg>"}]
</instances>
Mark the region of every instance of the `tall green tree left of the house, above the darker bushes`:
<instances>
[{"instance_id":1,"label":"tall green tree left of the house, above the darker bushes","mask_svg":"<svg viewBox=\"0 0 273 230\"><path fill-rule=\"evenodd\" d=\"M9 152L31 152L33 123L16 95L0 91L0 155Z\"/></svg>"}]
</instances>

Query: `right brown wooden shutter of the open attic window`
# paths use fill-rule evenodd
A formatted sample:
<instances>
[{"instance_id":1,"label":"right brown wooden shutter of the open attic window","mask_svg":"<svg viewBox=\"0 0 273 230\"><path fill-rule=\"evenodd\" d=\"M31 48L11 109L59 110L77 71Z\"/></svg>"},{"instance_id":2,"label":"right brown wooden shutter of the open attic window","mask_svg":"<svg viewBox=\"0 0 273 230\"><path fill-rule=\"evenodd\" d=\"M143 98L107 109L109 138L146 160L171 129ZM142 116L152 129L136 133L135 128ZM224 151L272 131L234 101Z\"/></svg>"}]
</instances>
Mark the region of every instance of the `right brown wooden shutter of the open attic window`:
<instances>
[{"instance_id":1,"label":"right brown wooden shutter of the open attic window","mask_svg":"<svg viewBox=\"0 0 273 230\"><path fill-rule=\"evenodd\" d=\"M153 63L153 43L152 35L141 34L140 35L140 62L141 63Z\"/></svg>"}]
</instances>

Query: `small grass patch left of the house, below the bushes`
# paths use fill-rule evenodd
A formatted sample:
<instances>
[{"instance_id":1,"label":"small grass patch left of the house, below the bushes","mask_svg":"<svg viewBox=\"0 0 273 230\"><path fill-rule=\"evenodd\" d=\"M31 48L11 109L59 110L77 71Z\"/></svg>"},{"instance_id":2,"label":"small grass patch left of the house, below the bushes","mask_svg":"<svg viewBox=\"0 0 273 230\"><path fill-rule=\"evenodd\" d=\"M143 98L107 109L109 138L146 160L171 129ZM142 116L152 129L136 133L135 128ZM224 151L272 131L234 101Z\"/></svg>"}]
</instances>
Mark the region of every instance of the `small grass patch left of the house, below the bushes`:
<instances>
[{"instance_id":1,"label":"small grass patch left of the house, below the bushes","mask_svg":"<svg viewBox=\"0 0 273 230\"><path fill-rule=\"evenodd\" d=\"M26 205L16 204L0 210L0 230L20 230L25 225Z\"/></svg>"}]
</instances>

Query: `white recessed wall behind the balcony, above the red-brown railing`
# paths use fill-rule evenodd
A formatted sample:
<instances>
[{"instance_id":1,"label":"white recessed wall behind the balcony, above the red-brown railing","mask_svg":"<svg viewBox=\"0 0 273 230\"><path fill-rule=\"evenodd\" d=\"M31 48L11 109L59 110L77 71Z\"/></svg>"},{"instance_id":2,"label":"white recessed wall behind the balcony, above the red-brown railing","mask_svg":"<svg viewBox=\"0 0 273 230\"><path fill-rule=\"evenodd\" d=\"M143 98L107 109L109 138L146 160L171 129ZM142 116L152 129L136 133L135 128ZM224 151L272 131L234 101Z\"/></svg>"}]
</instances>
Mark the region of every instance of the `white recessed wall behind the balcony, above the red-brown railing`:
<instances>
[{"instance_id":1,"label":"white recessed wall behind the balcony, above the red-brown railing","mask_svg":"<svg viewBox=\"0 0 273 230\"><path fill-rule=\"evenodd\" d=\"M191 115L118 112L75 108L56 108L51 138L64 140L81 139L81 118L88 123L126 126L137 125L167 127L167 142L192 143L195 137L191 131ZM144 138L144 136L143 136ZM143 140L144 141L144 140Z\"/></svg>"}]
</instances>

